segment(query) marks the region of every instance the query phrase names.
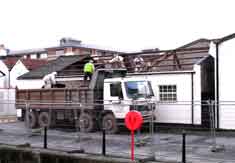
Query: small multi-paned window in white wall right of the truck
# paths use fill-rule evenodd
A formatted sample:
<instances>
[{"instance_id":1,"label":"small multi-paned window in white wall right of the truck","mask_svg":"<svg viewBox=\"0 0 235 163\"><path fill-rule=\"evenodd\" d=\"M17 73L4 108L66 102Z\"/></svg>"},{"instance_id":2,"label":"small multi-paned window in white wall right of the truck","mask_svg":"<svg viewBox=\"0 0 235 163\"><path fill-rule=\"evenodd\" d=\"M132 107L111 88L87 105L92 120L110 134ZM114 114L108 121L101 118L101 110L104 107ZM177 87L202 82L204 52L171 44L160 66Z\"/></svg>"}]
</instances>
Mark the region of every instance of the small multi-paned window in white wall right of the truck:
<instances>
[{"instance_id":1,"label":"small multi-paned window in white wall right of the truck","mask_svg":"<svg viewBox=\"0 0 235 163\"><path fill-rule=\"evenodd\" d=\"M176 85L160 85L159 86L159 96L162 102L176 102Z\"/></svg>"}]
</instances>

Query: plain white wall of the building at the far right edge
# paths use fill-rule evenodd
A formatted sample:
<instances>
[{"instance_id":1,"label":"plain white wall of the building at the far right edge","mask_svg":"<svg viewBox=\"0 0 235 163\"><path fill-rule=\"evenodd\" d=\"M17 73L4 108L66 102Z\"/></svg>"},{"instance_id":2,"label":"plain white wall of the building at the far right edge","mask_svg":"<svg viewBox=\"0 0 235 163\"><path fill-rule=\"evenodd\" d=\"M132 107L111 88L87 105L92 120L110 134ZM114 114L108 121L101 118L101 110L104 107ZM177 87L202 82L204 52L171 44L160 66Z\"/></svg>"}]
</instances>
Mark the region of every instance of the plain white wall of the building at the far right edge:
<instances>
[{"instance_id":1,"label":"plain white wall of the building at the far right edge","mask_svg":"<svg viewBox=\"0 0 235 163\"><path fill-rule=\"evenodd\" d=\"M235 39L219 45L219 127L235 129Z\"/></svg>"}]
</instances>

